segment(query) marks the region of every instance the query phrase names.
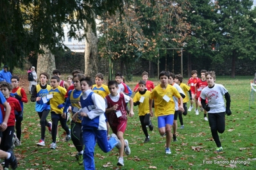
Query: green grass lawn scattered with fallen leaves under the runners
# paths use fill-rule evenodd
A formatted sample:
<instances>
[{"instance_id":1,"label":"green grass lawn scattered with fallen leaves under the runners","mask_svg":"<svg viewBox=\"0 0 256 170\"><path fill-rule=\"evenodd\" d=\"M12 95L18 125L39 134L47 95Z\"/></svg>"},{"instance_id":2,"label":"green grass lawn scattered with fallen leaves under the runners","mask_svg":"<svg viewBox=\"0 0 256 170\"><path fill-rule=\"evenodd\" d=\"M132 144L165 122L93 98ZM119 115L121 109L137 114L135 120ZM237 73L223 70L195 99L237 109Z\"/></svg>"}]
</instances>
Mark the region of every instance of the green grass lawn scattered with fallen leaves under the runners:
<instances>
[{"instance_id":1,"label":"green grass lawn scattered with fallen leaves under the runners","mask_svg":"<svg viewBox=\"0 0 256 170\"><path fill-rule=\"evenodd\" d=\"M139 79L138 79L139 80ZM216 144L210 133L209 123L194 111L183 116L185 128L178 129L178 142L171 143L171 155L165 155L165 138L160 137L157 130L157 119L152 118L155 129L149 132L151 141L144 144L144 134L141 129L137 107L135 116L128 119L128 127L124 138L128 139L132 154L124 156L124 167L117 167L118 151L115 148L110 153L103 153L96 146L95 162L97 169L256 169L256 160L249 164L227 164L234 160L256 158L255 129L256 101L249 112L250 81L252 77L217 77L216 83L223 84L231 96L232 115L226 116L226 130L219 134L223 153L216 154ZM135 82L128 82L133 88ZM156 82L158 84L158 81ZM29 95L30 97L30 95ZM62 128L62 141L57 143L56 150L50 150L51 135L46 133L45 147L36 145L40 139L40 124L35 103L24 105L24 121L22 122L22 145L15 148L19 159L18 169L83 169L76 162L76 149L71 141L64 142L65 134ZM48 116L50 120L50 116ZM179 121L178 121L179 122ZM178 123L178 127L180 124ZM208 162L207 162L208 161ZM212 164L209 164L212 161ZM220 162L226 161L226 162ZM223 164L221 164L223 163Z\"/></svg>"}]
</instances>

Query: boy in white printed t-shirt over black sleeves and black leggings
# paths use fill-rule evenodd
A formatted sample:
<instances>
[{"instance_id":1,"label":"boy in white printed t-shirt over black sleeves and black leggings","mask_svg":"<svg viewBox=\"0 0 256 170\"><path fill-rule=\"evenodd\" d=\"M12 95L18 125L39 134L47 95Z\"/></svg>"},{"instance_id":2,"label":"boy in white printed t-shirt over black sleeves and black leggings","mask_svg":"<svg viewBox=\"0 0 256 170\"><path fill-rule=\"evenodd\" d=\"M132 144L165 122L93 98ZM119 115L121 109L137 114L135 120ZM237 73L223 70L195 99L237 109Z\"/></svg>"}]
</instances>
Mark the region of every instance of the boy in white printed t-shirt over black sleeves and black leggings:
<instances>
[{"instance_id":1,"label":"boy in white printed t-shirt over black sleeves and black leggings","mask_svg":"<svg viewBox=\"0 0 256 170\"><path fill-rule=\"evenodd\" d=\"M216 81L215 72L205 73L205 77L208 86L201 91L201 105L203 109L208 112L210 131L212 132L212 137L217 145L216 151L223 151L221 146L221 141L219 141L219 133L225 131L225 112L230 116L230 95L228 91L222 84L214 83ZM226 99L226 107L224 98ZM206 98L208 99L208 104L206 104Z\"/></svg>"}]
</instances>

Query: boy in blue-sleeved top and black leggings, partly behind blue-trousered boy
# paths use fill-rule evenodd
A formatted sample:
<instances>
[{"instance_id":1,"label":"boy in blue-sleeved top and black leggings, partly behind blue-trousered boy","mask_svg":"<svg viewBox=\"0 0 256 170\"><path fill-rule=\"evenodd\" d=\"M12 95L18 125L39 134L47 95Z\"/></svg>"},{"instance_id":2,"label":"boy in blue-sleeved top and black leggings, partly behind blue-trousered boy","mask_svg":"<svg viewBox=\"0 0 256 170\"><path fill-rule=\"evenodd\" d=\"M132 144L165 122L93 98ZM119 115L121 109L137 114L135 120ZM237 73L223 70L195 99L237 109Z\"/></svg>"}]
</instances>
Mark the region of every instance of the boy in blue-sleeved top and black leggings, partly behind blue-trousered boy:
<instances>
[{"instance_id":1,"label":"boy in blue-sleeved top and black leggings, partly behind blue-trousered boy","mask_svg":"<svg viewBox=\"0 0 256 170\"><path fill-rule=\"evenodd\" d=\"M78 73L74 76L74 89L69 91L69 95L66 99L65 106L63 109L62 118L66 118L67 109L71 106L71 116L73 116L79 109L81 109L79 102L81 97L81 84L80 79L85 78L85 75ZM83 165L83 135L81 132L81 116L76 116L76 120L71 121L71 139L78 153L76 154L76 159L78 164Z\"/></svg>"}]
</instances>

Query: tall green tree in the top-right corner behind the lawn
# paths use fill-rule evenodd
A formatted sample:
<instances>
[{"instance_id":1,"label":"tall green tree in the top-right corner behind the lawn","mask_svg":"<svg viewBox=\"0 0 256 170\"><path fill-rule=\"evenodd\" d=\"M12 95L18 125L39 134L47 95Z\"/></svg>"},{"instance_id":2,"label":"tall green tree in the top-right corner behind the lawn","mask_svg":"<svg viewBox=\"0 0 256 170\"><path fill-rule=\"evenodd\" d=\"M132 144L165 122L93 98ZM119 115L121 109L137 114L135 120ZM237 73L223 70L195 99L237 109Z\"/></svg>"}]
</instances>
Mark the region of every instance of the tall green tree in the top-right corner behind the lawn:
<instances>
[{"instance_id":1,"label":"tall green tree in the top-right corner behind the lawn","mask_svg":"<svg viewBox=\"0 0 256 170\"><path fill-rule=\"evenodd\" d=\"M231 77L235 77L235 63L237 59L255 59L255 9L253 1L216 1L214 20L216 40L220 47L216 60L232 59Z\"/></svg>"}]
</instances>

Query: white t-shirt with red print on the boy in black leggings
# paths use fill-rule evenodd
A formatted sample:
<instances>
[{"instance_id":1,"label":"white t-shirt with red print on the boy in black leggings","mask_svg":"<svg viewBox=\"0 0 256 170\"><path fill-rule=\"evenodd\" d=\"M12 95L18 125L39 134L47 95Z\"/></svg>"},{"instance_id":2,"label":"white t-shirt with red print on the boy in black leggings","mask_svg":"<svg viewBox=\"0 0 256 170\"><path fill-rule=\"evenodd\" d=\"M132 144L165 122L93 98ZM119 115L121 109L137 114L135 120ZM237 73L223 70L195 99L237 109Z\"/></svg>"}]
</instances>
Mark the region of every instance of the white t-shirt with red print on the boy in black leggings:
<instances>
[{"instance_id":1,"label":"white t-shirt with red print on the boy in black leggings","mask_svg":"<svg viewBox=\"0 0 256 170\"><path fill-rule=\"evenodd\" d=\"M226 111L223 95L225 95L227 92L228 91L222 84L214 84L213 88L209 88L207 86L202 89L200 97L204 100L206 98L208 99L208 105L210 107L209 113Z\"/></svg>"}]
</instances>

